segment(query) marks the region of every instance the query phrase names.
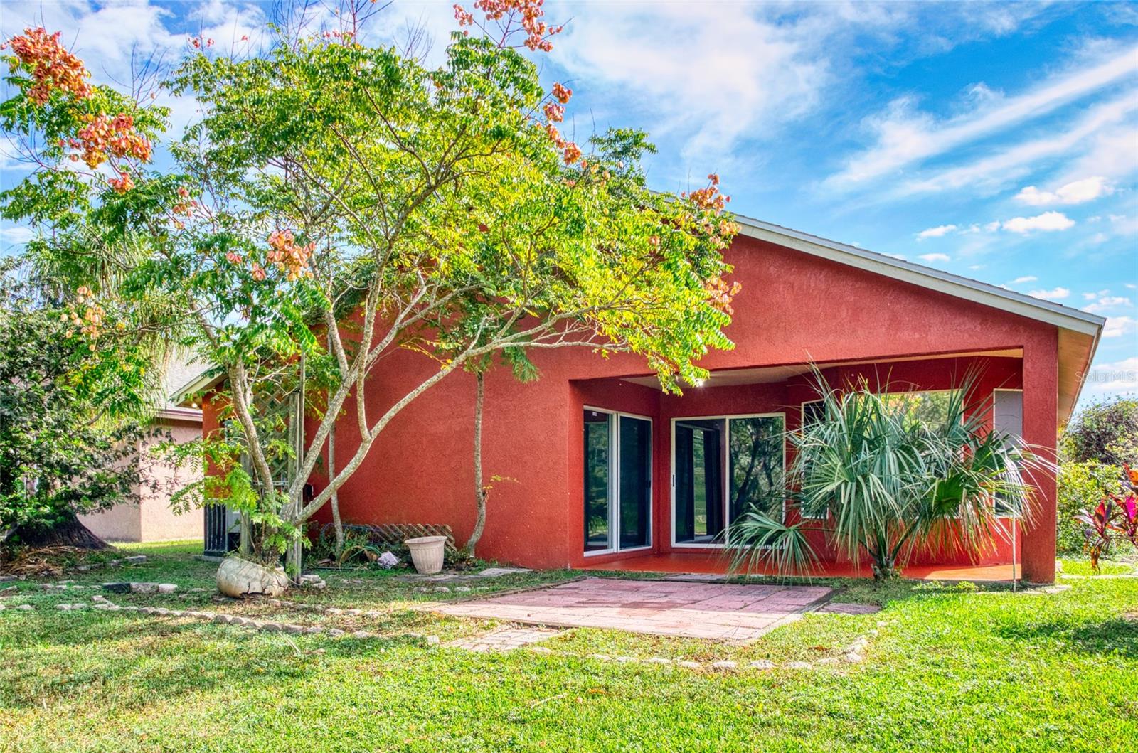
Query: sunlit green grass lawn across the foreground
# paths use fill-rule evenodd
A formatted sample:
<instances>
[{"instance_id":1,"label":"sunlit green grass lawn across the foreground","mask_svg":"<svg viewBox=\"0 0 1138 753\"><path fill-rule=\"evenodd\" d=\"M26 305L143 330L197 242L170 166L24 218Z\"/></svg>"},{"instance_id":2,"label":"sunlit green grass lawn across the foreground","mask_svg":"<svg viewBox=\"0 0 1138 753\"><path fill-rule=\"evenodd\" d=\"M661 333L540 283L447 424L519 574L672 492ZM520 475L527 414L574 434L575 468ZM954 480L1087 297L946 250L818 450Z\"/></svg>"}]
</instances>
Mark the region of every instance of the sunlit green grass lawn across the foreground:
<instances>
[{"instance_id":1,"label":"sunlit green grass lawn across the foreground","mask_svg":"<svg viewBox=\"0 0 1138 753\"><path fill-rule=\"evenodd\" d=\"M381 637L61 612L55 604L97 591L43 591L28 579L5 603L38 610L0 612L0 750L1099 752L1132 751L1138 739L1138 579L1072 578L1055 594L847 581L836 584L848 588L842 601L882 612L807 615L749 646L578 629L542 644L552 655L473 654L412 634L445 642L493 623L411 611L456 595L420 593L391 573L325 572L327 590L289 596L382 613L331 617L215 603L214 565L195 560L195 547L133 548L148 562L114 577L211 590L116 603ZM492 588L575 574L510 576ZM587 657L810 661L879 620L896 623L871 638L860 664L719 672Z\"/></svg>"}]
</instances>

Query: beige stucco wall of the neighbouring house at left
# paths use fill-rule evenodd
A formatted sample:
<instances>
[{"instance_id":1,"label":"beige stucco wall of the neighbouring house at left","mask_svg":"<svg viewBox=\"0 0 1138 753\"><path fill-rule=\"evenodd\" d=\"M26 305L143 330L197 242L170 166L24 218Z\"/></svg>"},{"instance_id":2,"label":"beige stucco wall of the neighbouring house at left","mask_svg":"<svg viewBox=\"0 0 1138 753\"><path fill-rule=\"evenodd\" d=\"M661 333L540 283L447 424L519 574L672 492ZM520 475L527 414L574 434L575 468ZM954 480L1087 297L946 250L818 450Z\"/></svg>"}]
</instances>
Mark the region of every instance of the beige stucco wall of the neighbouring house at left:
<instances>
[{"instance_id":1,"label":"beige stucco wall of the neighbouring house at left","mask_svg":"<svg viewBox=\"0 0 1138 753\"><path fill-rule=\"evenodd\" d=\"M168 431L178 442L201 436L200 420L159 419L158 425ZM143 483L138 505L117 505L101 513L80 516L93 533L108 541L162 541L203 537L203 510L195 508L179 515L170 508L171 495L190 481L201 478L201 472L197 469L175 469L149 457L149 448L163 439L149 440L139 453ZM156 488L151 488L152 482L157 482Z\"/></svg>"}]
</instances>

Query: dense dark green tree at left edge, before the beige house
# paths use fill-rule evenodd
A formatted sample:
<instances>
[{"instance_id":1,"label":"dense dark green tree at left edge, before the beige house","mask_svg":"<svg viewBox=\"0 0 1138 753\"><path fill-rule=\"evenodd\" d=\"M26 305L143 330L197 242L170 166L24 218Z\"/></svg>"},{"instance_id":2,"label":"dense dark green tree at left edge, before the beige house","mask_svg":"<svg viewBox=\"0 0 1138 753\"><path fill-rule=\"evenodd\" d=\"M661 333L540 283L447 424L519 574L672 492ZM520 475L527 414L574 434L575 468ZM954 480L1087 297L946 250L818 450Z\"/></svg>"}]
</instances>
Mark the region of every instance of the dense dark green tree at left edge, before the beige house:
<instances>
[{"instance_id":1,"label":"dense dark green tree at left edge, before the beige house","mask_svg":"<svg viewBox=\"0 0 1138 753\"><path fill-rule=\"evenodd\" d=\"M106 544L83 513L137 503L143 437L110 420L92 392L74 312L0 270L0 548Z\"/></svg>"}]
</instances>

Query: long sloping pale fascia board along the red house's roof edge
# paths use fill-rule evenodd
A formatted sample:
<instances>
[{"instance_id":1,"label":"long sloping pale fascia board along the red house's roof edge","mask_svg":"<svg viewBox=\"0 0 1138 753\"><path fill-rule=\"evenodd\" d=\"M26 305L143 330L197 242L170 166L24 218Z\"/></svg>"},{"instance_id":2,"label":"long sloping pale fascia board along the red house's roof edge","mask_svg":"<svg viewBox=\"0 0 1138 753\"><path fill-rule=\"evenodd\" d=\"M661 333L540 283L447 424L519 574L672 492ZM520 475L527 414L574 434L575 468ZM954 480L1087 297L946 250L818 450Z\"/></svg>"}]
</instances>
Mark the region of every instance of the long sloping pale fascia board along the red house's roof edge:
<instances>
[{"instance_id":1,"label":"long sloping pale fascia board along the red house's roof edge","mask_svg":"<svg viewBox=\"0 0 1138 753\"><path fill-rule=\"evenodd\" d=\"M743 235L757 238L778 246L785 246L813 256L849 264L887 278L900 280L930 290L972 300L984 306L1019 314L1028 318L1047 322L1056 326L1089 334L1098 339L1106 318L1077 308L1070 308L1049 300L1040 300L1020 292L970 280L949 272L941 272L921 264L914 264L864 248L839 243L838 241L810 235L790 227L782 227L761 220L735 215Z\"/></svg>"}]
</instances>

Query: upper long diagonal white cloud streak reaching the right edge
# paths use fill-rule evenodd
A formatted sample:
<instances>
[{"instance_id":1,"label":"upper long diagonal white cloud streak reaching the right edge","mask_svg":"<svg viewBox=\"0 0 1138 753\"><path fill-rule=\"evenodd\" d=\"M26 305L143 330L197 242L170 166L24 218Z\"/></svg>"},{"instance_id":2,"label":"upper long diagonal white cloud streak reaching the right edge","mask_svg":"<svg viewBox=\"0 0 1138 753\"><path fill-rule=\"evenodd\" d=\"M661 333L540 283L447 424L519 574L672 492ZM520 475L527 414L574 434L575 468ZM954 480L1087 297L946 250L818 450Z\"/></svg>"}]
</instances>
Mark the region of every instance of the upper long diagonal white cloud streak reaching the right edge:
<instances>
[{"instance_id":1,"label":"upper long diagonal white cloud streak reaching the right edge","mask_svg":"<svg viewBox=\"0 0 1138 753\"><path fill-rule=\"evenodd\" d=\"M1135 53L1135 48L1115 50L1083 67L1052 76L1032 91L1009 98L989 96L974 110L943 121L917 111L912 98L897 99L885 113L867 121L875 143L850 158L827 182L835 188L851 188L896 175L913 164L1038 118L1132 75Z\"/></svg>"}]
</instances>

